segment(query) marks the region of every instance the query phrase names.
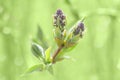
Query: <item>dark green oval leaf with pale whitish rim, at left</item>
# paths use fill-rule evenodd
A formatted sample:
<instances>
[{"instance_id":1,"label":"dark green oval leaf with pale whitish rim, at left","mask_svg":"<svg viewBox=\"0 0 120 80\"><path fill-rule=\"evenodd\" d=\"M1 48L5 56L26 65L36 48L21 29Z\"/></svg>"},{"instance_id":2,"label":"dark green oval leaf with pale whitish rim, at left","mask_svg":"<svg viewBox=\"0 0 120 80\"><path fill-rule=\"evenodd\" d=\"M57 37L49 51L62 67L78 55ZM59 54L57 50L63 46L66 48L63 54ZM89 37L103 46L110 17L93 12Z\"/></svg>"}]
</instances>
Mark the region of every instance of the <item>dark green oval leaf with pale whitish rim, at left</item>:
<instances>
[{"instance_id":1,"label":"dark green oval leaf with pale whitish rim, at left","mask_svg":"<svg viewBox=\"0 0 120 80\"><path fill-rule=\"evenodd\" d=\"M38 45L36 43L32 43L32 53L38 59L40 59L40 58L44 59L44 56L45 56L44 50L40 45Z\"/></svg>"}]
</instances>

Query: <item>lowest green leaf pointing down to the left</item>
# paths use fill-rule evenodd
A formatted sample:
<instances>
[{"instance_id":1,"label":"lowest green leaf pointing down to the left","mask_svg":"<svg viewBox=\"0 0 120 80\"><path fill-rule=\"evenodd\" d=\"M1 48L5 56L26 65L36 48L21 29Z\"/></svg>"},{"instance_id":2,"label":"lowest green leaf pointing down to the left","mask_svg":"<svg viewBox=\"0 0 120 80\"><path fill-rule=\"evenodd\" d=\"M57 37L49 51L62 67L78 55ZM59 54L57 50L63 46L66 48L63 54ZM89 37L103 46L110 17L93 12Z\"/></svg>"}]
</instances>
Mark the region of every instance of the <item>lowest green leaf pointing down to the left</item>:
<instances>
[{"instance_id":1,"label":"lowest green leaf pointing down to the left","mask_svg":"<svg viewBox=\"0 0 120 80\"><path fill-rule=\"evenodd\" d=\"M32 67L28 68L25 73L31 73L34 71L43 71L44 68L45 68L44 64L33 65Z\"/></svg>"}]
</instances>

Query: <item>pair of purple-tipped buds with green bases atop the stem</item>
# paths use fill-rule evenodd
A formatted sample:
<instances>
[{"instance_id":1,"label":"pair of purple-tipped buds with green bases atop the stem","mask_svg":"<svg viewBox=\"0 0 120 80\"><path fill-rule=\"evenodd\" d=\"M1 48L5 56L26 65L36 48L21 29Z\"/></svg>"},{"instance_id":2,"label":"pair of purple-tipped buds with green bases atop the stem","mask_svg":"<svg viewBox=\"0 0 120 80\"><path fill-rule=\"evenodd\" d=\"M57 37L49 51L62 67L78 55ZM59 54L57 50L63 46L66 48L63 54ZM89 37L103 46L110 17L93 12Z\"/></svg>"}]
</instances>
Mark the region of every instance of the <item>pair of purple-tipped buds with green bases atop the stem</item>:
<instances>
[{"instance_id":1,"label":"pair of purple-tipped buds with green bases atop the stem","mask_svg":"<svg viewBox=\"0 0 120 80\"><path fill-rule=\"evenodd\" d=\"M80 38L83 37L83 32L85 30L83 21L79 21L75 26L73 26L67 33L66 26L66 16L63 11L58 9L54 15L54 38L58 46L64 45L64 47L74 46Z\"/></svg>"}]
</instances>

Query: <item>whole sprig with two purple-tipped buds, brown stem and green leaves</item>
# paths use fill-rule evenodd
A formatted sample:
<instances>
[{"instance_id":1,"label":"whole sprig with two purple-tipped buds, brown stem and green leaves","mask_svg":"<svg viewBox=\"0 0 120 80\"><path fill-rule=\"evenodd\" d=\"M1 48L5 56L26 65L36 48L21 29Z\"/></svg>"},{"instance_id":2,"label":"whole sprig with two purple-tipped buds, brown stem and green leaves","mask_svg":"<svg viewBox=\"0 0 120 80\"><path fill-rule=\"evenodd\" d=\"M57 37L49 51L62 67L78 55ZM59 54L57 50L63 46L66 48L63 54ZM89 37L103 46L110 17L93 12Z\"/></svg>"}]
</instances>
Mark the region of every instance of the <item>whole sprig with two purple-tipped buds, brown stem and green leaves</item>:
<instances>
[{"instance_id":1,"label":"whole sprig with two purple-tipped buds, brown stem and green leaves","mask_svg":"<svg viewBox=\"0 0 120 80\"><path fill-rule=\"evenodd\" d=\"M66 51L74 49L78 44L79 39L83 37L83 32L85 30L83 23L84 19L78 21L72 28L70 28L70 30L66 30L66 16L61 9L56 11L53 18L53 33L58 48L54 53L51 53L52 47L46 49L44 46L40 46L40 44L33 42L31 45L32 53L42 62L42 64L30 67L27 72L48 70L53 74L53 64L64 59L68 59L68 57L65 57ZM42 32L42 30L38 31ZM42 38L44 37L43 35L37 35Z\"/></svg>"}]
</instances>

